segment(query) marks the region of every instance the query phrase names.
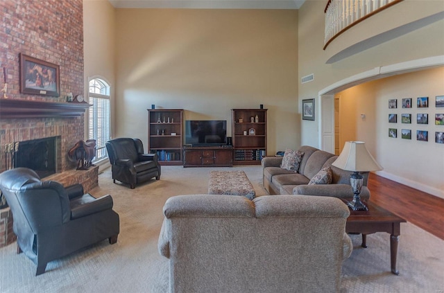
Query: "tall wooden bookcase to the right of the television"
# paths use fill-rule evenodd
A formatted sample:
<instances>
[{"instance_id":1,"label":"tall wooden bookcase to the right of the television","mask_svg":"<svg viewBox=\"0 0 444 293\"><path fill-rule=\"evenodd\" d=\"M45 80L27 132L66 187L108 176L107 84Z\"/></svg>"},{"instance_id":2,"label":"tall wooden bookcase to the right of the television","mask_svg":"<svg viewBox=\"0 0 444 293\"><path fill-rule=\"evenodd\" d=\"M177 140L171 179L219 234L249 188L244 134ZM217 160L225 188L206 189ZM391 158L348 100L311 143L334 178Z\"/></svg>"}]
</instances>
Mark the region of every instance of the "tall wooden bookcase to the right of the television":
<instances>
[{"instance_id":1,"label":"tall wooden bookcase to the right of the television","mask_svg":"<svg viewBox=\"0 0 444 293\"><path fill-rule=\"evenodd\" d=\"M267 109L232 109L233 165L259 165L266 156Z\"/></svg>"}]
</instances>

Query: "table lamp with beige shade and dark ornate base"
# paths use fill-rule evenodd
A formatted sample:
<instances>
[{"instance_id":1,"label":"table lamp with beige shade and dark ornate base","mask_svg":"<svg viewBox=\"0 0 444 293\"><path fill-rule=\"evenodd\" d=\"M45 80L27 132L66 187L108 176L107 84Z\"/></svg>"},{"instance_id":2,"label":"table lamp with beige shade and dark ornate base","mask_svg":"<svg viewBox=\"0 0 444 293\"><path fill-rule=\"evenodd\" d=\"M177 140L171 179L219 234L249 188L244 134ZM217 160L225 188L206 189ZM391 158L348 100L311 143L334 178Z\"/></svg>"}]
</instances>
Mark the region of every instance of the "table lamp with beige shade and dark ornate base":
<instances>
[{"instance_id":1,"label":"table lamp with beige shade and dark ornate base","mask_svg":"<svg viewBox=\"0 0 444 293\"><path fill-rule=\"evenodd\" d=\"M382 167L368 152L366 144L363 141L346 141L341 154L332 163L332 166L353 172L350 175L350 185L354 195L352 202L347 204L352 208L352 211L368 211L367 206L361 202L361 197L359 196L364 183L364 177L359 172L382 170Z\"/></svg>"}]
</instances>

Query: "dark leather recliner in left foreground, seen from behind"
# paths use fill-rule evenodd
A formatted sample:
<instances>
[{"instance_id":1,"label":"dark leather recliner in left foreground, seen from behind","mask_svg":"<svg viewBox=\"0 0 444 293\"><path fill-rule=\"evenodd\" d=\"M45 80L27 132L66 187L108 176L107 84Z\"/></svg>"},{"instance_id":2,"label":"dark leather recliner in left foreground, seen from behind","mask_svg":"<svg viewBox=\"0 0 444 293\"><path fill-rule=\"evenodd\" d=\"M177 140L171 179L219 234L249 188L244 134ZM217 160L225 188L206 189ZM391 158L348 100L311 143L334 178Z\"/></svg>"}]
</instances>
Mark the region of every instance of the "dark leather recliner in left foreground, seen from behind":
<instances>
[{"instance_id":1,"label":"dark leather recliner in left foreground, seen from behind","mask_svg":"<svg viewBox=\"0 0 444 293\"><path fill-rule=\"evenodd\" d=\"M24 252L37 265L36 276L46 264L108 238L117 242L119 215L112 211L112 197L83 194L83 186L64 188L56 181L40 181L28 168L0 174L17 235L17 254Z\"/></svg>"}]
</instances>

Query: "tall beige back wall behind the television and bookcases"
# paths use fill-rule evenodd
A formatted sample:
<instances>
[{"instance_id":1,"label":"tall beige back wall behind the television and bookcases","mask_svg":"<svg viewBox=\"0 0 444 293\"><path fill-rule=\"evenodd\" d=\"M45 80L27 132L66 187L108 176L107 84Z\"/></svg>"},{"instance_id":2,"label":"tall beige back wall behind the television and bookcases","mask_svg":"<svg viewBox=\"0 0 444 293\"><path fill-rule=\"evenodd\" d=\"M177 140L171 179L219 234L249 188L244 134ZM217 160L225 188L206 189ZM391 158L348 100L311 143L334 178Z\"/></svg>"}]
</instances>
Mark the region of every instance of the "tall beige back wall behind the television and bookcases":
<instances>
[{"instance_id":1,"label":"tall beige back wall behind the television and bookcases","mask_svg":"<svg viewBox=\"0 0 444 293\"><path fill-rule=\"evenodd\" d=\"M300 144L296 10L117 9L114 134L147 143L147 112L228 121L268 109L268 154Z\"/></svg>"}]
</instances>

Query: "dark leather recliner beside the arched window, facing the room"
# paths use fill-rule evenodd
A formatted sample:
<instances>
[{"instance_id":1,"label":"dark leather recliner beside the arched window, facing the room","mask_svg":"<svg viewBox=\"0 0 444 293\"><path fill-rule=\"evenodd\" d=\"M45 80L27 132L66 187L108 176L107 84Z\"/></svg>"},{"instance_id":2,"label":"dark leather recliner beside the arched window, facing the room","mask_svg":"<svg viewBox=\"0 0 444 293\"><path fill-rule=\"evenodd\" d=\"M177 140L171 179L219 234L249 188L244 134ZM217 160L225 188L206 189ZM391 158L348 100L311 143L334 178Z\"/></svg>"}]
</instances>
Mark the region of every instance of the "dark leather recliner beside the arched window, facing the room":
<instances>
[{"instance_id":1,"label":"dark leather recliner beside the arched window, facing the room","mask_svg":"<svg viewBox=\"0 0 444 293\"><path fill-rule=\"evenodd\" d=\"M112 180L119 180L135 188L136 184L155 177L160 179L160 163L157 154L144 154L140 139L112 139L106 143L110 158Z\"/></svg>"}]
</instances>

